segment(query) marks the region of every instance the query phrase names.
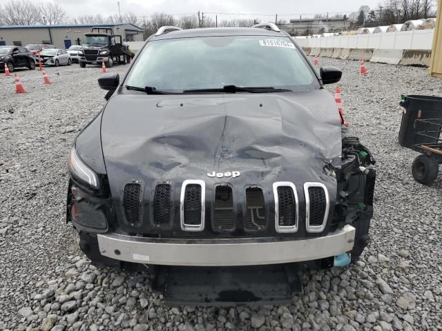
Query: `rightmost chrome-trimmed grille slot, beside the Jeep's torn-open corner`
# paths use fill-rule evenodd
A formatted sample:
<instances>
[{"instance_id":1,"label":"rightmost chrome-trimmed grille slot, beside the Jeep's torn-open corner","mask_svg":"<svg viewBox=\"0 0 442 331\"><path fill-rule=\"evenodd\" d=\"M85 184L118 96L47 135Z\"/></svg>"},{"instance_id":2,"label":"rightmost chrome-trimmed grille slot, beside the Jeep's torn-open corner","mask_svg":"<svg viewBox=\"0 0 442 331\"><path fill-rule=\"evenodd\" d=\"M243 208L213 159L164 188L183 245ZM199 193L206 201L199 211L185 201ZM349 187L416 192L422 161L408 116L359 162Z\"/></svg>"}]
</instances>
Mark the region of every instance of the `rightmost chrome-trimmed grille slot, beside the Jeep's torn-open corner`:
<instances>
[{"instance_id":1,"label":"rightmost chrome-trimmed grille slot, beside the Jeep's torn-open corner","mask_svg":"<svg viewBox=\"0 0 442 331\"><path fill-rule=\"evenodd\" d=\"M307 232L322 232L327 224L329 194L323 183L305 183Z\"/></svg>"}]
</instances>

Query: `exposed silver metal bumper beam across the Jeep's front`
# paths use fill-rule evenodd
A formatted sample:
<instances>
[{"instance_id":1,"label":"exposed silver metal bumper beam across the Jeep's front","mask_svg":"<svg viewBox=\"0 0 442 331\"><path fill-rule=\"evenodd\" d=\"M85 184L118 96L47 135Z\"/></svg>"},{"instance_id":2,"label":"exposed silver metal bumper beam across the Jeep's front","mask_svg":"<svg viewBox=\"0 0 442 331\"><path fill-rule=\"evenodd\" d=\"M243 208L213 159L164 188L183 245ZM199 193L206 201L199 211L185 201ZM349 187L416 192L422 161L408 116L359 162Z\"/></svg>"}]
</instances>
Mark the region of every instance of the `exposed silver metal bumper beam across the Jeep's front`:
<instances>
[{"instance_id":1,"label":"exposed silver metal bumper beam across the Jeep's front","mask_svg":"<svg viewBox=\"0 0 442 331\"><path fill-rule=\"evenodd\" d=\"M97 234L105 257L133 263L188 266L266 265L334 257L353 249L355 228L293 241L260 239L153 239Z\"/></svg>"}]
</instances>

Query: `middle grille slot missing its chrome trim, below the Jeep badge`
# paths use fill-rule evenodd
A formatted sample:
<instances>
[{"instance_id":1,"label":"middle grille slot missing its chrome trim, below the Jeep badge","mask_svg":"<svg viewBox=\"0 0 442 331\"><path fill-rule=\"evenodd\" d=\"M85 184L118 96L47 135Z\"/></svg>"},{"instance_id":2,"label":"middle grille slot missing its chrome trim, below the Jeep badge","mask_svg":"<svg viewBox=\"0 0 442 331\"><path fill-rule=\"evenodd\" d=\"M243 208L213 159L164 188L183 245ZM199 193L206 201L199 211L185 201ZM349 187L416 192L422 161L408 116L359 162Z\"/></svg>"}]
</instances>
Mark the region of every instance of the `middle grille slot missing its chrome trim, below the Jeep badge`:
<instances>
[{"instance_id":1,"label":"middle grille slot missing its chrome trim, below the Jeep badge","mask_svg":"<svg viewBox=\"0 0 442 331\"><path fill-rule=\"evenodd\" d=\"M233 192L231 187L220 185L215 188L213 216L215 230L233 230Z\"/></svg>"}]
</instances>

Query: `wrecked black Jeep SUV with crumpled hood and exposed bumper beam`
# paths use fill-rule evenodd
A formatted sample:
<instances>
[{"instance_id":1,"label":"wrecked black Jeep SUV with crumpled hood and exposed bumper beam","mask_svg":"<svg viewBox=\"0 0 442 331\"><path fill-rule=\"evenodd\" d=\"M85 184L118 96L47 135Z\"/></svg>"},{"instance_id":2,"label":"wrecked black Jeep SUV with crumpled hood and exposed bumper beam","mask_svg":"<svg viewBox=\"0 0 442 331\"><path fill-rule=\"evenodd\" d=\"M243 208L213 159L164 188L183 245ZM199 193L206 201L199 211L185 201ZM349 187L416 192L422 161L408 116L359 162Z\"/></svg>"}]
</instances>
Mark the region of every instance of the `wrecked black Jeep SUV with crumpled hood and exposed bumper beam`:
<instances>
[{"instance_id":1,"label":"wrecked black Jeep SUV with crumpled hood and exposed bumper beam","mask_svg":"<svg viewBox=\"0 0 442 331\"><path fill-rule=\"evenodd\" d=\"M367 245L374 159L289 34L160 28L68 162L68 221L101 265L146 265L172 303L284 301L301 268Z\"/></svg>"}]
</instances>

